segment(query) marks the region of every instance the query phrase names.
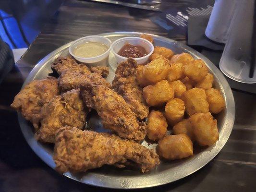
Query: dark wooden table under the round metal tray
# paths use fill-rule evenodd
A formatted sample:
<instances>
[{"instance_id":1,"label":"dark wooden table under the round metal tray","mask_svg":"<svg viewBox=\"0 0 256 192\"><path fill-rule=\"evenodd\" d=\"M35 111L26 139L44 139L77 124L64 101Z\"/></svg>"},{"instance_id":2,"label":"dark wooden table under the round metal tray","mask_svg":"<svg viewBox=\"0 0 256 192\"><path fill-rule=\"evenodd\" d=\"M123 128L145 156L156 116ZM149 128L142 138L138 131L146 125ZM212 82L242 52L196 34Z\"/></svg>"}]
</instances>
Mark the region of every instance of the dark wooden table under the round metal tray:
<instances>
[{"instance_id":1,"label":"dark wooden table under the round metal tray","mask_svg":"<svg viewBox=\"0 0 256 192\"><path fill-rule=\"evenodd\" d=\"M173 0L183 6L196 0ZM60 46L81 36L114 31L137 31L167 36L148 18L155 12L97 2L67 0L0 84L0 192L96 192L49 168L30 149L10 104L35 64ZM184 36L172 36L185 40ZM256 189L256 95L233 90L236 119L232 134L210 163L194 174L150 192L250 192ZM106 190L117 191L117 190Z\"/></svg>"}]
</instances>

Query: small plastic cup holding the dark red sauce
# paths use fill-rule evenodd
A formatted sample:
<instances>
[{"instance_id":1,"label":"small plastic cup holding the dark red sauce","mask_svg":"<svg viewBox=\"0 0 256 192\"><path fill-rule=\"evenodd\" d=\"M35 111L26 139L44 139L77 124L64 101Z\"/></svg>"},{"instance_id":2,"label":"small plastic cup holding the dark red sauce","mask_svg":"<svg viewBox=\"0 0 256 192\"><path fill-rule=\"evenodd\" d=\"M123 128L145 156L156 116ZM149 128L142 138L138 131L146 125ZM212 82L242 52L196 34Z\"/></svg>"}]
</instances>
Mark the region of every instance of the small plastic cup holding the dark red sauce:
<instances>
[{"instance_id":1,"label":"small plastic cup holding the dark red sauce","mask_svg":"<svg viewBox=\"0 0 256 192\"><path fill-rule=\"evenodd\" d=\"M123 37L123 38L117 39L116 41L114 41L112 43L111 50L112 50L113 54L115 55L117 63L121 63L122 61L127 60L126 57L122 57L121 55L118 55L118 52L126 43L130 43L130 44L136 45L136 46L139 45L146 49L146 52L148 53L146 56L134 58L134 60L137 61L137 64L146 64L146 61L149 59L149 56L154 51L153 44L144 38L135 37L135 36Z\"/></svg>"}]
</instances>

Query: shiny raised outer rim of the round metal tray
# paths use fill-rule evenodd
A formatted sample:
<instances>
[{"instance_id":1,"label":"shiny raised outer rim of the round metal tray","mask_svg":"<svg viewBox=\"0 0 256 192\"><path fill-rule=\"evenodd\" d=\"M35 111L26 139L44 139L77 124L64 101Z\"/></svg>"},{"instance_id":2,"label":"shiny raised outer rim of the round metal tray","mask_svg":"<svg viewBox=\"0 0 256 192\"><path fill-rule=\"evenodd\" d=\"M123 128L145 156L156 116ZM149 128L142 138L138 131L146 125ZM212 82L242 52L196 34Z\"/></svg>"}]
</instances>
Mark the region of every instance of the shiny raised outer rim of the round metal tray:
<instances>
[{"instance_id":1,"label":"shiny raised outer rim of the round metal tray","mask_svg":"<svg viewBox=\"0 0 256 192\"><path fill-rule=\"evenodd\" d=\"M140 35L141 33L138 32L114 32L114 33L104 33L104 34L100 34L101 36L118 36L118 35L129 35L129 36L137 36ZM209 153L206 152L206 154L204 155L204 159L203 161L200 160L199 161L199 165L194 168L193 170L189 170L185 173L183 173L183 175L180 175L179 178L168 178L168 176L170 176L170 174L172 173L168 173L168 171L164 171L164 173L159 173L155 175L149 175L147 176L147 180L150 179L150 184L143 184L142 181L137 182L136 185L134 185L134 183L131 183L131 185L127 185L126 180L128 180L128 178L130 179L129 182L133 182L135 180L139 180L136 177L123 177L123 178L114 178L111 177L111 180L108 180L110 178L103 178L103 179L107 179L106 182L95 182L95 178L93 177L93 174L88 176L87 180L86 177L83 180L78 180L72 177L72 175L70 175L69 173L64 174L66 177L79 181L79 182L83 182L89 185L93 185L93 186L99 186L99 187L106 187L106 188L114 188L114 189L138 189L138 188L148 188L148 187L153 187L153 186L158 186L158 185L163 185L166 183L170 183L179 179L182 179L188 175L191 175L192 173L194 173L195 171L197 171L198 169L204 167L208 162L210 162L218 153L219 151L222 149L222 147L224 146L224 144L227 142L231 132L232 132L232 127L234 124L234 117L235 117L235 105L234 105L234 98L232 95L232 90L227 82L227 80L225 79L225 77L223 76L223 74L219 71L219 69L210 61L208 60L205 56L203 56L202 54L200 54L199 52L195 51L194 49L180 44L177 41L174 41L172 39L166 38L166 37L162 37L162 36L157 36L157 35L153 35L153 34L149 34L152 35L158 39L161 40L165 40L167 42L175 42L176 44L179 44L180 46L182 46L182 48L184 48L184 50L190 52L192 55L197 56L199 58L201 58L202 60L204 60L208 67L210 67L211 71L213 71L215 78L217 77L217 81L221 82L221 89L225 95L225 99L226 99L226 104L227 104L227 113L225 116L225 120L224 120L224 124L225 130L224 133L222 135L222 138L219 139L219 141L217 142L216 146L213 147L212 151ZM72 42L67 43L63 46L61 46L60 48L56 49L55 51L49 53L46 57L44 57L42 60L40 60L37 65L33 68L33 70L29 73L28 77L26 78L23 86L27 83L29 83L30 81L33 80L33 77L40 72L40 68L44 65L44 63L46 61L49 60L49 58L52 58L54 56L56 56L56 54L58 54L61 50L64 50L65 48L68 48L71 45ZM30 138L30 136L28 135L28 130L26 128L26 126L24 125L24 118L21 116L21 114L18 114L18 120L20 123L20 127L21 127L21 131L23 132L23 135L27 141L27 143L30 145L30 147L32 148L32 150L37 154L37 156L39 156L46 164L48 164L51 168L55 167L55 164L53 162L53 160L49 160L49 158L51 158L51 156L49 154L45 154L44 151L42 150L38 150L38 147L41 146L41 144L37 144L37 146L35 146L35 141L33 141L33 139ZM35 140L35 139L34 139ZM38 143L38 142L37 142ZM204 152L202 152L204 153ZM110 176L108 176L110 177ZM156 179L158 178L158 179ZM167 179L166 179L167 178ZM96 178L97 180L97 178Z\"/></svg>"}]
</instances>

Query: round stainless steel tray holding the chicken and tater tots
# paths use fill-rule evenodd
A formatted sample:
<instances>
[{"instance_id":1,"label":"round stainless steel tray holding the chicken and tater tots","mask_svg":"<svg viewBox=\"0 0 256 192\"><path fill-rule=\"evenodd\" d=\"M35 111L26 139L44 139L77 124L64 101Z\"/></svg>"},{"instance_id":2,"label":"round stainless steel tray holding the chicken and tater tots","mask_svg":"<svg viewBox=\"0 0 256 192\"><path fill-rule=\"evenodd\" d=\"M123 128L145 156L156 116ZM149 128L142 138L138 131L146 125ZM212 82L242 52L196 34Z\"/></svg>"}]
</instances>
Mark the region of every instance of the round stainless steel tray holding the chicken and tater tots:
<instances>
[{"instance_id":1,"label":"round stainless steel tray holding the chicken and tater tots","mask_svg":"<svg viewBox=\"0 0 256 192\"><path fill-rule=\"evenodd\" d=\"M124 36L139 35L140 33L134 32L101 34L101 36L110 38L111 41L114 41ZM220 114L215 116L215 118L218 120L219 141L213 146L197 150L195 152L195 155L189 158L171 162L163 161L155 169L144 174L140 173L137 170L128 170L125 168L118 169L111 166L104 166L102 168L87 171L86 173L65 173L64 175L66 177L90 185L116 189L134 189L158 186L182 179L183 177L194 173L199 168L202 168L219 153L221 148L227 142L232 132L232 127L234 123L235 105L231 88L222 73L210 60L208 60L206 57L204 57L194 49L165 37L156 35L152 36L154 36L155 46L171 48L175 53L188 52L194 58L200 58L206 62L210 73L212 73L214 76L214 87L218 88L221 91L226 101L226 108ZM58 56L68 55L68 47L70 45L71 42L56 49L55 51L47 55L44 59L40 60L35 68L28 75L27 79L24 82L24 85L34 79L43 79L48 75L48 73L52 72L50 68L50 63ZM114 78L114 71L116 69L116 61L112 53L110 53L109 63L110 75L107 80L111 82ZM18 114L18 119L27 143L31 146L37 156L39 156L51 168L55 168L55 164L52 159L52 145L37 142L34 138L34 131L32 125L28 121L24 120L24 118L20 114ZM94 125L95 123L100 125L100 120L96 119L92 121ZM144 141L142 144L147 146L148 148L155 148L156 146L156 144L147 144L146 141Z\"/></svg>"}]
</instances>

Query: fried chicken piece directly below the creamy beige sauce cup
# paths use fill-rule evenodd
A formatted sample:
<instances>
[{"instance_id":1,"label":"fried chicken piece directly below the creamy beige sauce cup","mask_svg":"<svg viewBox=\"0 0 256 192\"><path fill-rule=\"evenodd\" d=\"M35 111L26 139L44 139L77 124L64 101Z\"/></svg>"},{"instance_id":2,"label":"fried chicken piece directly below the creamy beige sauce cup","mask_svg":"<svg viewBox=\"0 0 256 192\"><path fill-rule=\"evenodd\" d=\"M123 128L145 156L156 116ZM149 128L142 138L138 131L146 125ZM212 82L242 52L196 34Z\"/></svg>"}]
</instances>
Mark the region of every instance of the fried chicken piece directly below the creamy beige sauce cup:
<instances>
[{"instance_id":1,"label":"fried chicken piece directly below the creamy beige sauce cup","mask_svg":"<svg viewBox=\"0 0 256 192\"><path fill-rule=\"evenodd\" d=\"M103 77L108 76L107 67L91 67L90 69L82 63L77 63L71 57L57 58L51 67L60 74L59 87L61 92L78 89L82 84L94 82L111 87Z\"/></svg>"}]
</instances>

